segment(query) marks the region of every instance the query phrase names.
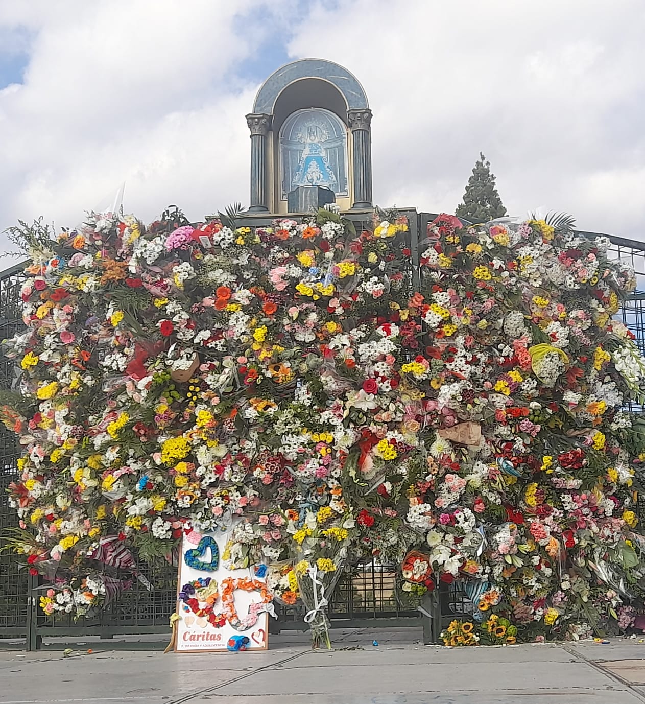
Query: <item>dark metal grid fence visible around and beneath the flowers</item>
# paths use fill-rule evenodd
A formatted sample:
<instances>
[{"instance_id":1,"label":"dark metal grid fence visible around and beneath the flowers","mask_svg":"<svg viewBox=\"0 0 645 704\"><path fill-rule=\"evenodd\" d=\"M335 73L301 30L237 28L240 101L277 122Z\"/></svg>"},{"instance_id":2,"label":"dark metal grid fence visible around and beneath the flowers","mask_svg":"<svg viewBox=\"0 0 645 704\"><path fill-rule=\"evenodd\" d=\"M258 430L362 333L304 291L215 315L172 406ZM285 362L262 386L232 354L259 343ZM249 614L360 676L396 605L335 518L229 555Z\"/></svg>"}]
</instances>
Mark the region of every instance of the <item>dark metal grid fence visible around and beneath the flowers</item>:
<instances>
[{"instance_id":1,"label":"dark metal grid fence visible around and beneath the flowers","mask_svg":"<svg viewBox=\"0 0 645 704\"><path fill-rule=\"evenodd\" d=\"M419 247L426 237L428 223L436 215L402 210L409 220L409 233L401 246L411 250L412 265L405 272L409 282L419 281ZM347 214L357 232L371 230L371 211ZM249 217L241 225L269 225L272 218ZM595 233L583 233L594 237ZM634 332L641 351L645 354L645 244L611 237L614 258L629 260L637 272L638 291L620 309L618 316ZM22 327L20 286L23 264L0 272L0 340L12 337ZM15 383L13 362L0 351L0 388L11 388ZM15 510L10 508L6 489L16 474L18 458L15 436L0 427L0 545L8 527L16 524ZM23 639L27 648L39 648L46 636L101 636L110 639L124 634L169 633L168 622L176 605L177 567L164 560L142 565L141 570L154 585L148 591L140 582L134 582L120 601L112 603L101 617L73 621L68 616L46 617L38 607L39 586L26 570L18 568L15 555L0 552L0 645L3 639ZM447 620L463 612L464 599L456 597L455 588L442 589L428 596L424 607L435 615L433 620L423 618L417 611L404 608L395 591L395 567L380 565L374 560L354 565L340 578L328 608L332 626L414 624L424 627L424 640L438 642L438 636ZM272 631L302 628L302 614L297 608L280 610Z\"/></svg>"}]
</instances>

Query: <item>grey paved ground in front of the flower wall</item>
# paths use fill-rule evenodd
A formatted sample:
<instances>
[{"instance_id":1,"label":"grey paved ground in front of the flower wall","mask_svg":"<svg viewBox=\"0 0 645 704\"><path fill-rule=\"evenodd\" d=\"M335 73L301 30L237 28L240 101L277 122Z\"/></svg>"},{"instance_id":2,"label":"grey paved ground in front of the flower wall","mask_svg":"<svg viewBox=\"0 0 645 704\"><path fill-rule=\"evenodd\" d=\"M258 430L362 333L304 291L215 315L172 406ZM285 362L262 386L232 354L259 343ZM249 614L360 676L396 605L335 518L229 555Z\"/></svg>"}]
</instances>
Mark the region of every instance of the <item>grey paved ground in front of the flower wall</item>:
<instances>
[{"instance_id":1,"label":"grey paved ground in front of the flower wall","mask_svg":"<svg viewBox=\"0 0 645 704\"><path fill-rule=\"evenodd\" d=\"M53 643L0 650L0 704L645 703L645 643L452 649L420 635L335 631L331 653L308 650L303 634L273 636L266 653L164 655L89 640L70 658Z\"/></svg>"}]
</instances>

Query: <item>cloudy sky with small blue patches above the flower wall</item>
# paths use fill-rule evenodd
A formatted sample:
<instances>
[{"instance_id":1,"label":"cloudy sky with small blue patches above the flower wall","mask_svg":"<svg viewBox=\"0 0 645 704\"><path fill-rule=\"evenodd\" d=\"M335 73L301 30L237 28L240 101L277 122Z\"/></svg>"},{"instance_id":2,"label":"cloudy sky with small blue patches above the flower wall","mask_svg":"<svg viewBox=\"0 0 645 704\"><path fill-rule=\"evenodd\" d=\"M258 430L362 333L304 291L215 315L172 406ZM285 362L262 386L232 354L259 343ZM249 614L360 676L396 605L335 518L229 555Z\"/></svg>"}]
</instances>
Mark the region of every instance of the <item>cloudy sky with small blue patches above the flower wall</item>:
<instances>
[{"instance_id":1,"label":"cloudy sky with small blue patches above the flower wall","mask_svg":"<svg viewBox=\"0 0 645 704\"><path fill-rule=\"evenodd\" d=\"M244 115L314 56L366 89L379 205L454 212L482 150L511 214L645 239L644 35L643 0L0 0L0 229L248 203Z\"/></svg>"}]
</instances>

